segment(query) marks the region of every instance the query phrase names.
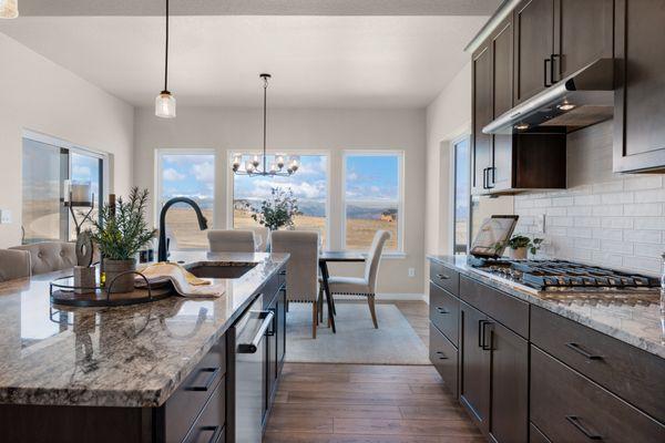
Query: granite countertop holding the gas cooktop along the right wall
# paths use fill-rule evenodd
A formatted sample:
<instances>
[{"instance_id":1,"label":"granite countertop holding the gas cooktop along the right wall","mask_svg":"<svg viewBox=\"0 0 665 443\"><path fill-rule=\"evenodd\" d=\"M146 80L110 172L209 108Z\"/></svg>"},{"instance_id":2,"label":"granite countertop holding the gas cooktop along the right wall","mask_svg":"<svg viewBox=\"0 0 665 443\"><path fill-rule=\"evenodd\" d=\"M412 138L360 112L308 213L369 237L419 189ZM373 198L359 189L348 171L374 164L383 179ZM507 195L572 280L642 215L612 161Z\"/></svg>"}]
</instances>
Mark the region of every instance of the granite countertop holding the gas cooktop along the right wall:
<instances>
[{"instance_id":1,"label":"granite countertop holding the gas cooktop along the right wall","mask_svg":"<svg viewBox=\"0 0 665 443\"><path fill-rule=\"evenodd\" d=\"M466 256L428 256L460 274L665 359L665 296L661 291L539 291L472 268Z\"/></svg>"}]
</instances>

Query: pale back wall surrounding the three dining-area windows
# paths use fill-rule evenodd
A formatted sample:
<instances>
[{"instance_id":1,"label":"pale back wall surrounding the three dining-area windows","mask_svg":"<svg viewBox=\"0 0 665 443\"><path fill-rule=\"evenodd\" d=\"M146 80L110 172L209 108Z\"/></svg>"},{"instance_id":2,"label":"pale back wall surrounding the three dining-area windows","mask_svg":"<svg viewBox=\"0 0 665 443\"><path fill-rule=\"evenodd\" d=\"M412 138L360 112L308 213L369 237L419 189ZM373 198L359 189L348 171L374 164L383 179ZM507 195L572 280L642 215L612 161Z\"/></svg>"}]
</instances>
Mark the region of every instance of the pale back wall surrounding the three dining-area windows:
<instances>
[{"instance_id":1,"label":"pale back wall surrounding the three dining-area windows","mask_svg":"<svg viewBox=\"0 0 665 443\"><path fill-rule=\"evenodd\" d=\"M180 107L177 119L156 119L151 109L136 111L134 183L154 194L155 148L213 148L217 153L215 227L227 218L227 151L262 146L262 110ZM303 110L273 109L268 114L268 146L276 151L327 151L330 158L330 248L341 247L341 152L344 150L405 151L405 253L386 259L379 292L422 293L424 266L424 110ZM152 209L151 209L152 210ZM358 266L347 267L357 272ZM416 277L408 277L408 268Z\"/></svg>"}]
</instances>

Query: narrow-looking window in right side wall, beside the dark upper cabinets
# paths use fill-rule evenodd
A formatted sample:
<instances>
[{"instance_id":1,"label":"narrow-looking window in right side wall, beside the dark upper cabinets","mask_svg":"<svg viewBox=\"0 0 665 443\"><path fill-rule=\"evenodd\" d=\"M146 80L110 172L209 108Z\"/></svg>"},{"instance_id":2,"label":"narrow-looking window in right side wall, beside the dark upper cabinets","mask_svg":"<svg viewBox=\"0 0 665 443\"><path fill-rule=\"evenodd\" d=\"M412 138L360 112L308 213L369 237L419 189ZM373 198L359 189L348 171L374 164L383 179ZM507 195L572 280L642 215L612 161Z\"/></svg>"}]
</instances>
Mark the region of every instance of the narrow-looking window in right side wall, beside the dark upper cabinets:
<instances>
[{"instance_id":1,"label":"narrow-looking window in right side wall, beside the dark upper cabinets","mask_svg":"<svg viewBox=\"0 0 665 443\"><path fill-rule=\"evenodd\" d=\"M453 195L453 253L467 254L469 247L470 233L470 203L471 203L471 182L470 182L470 155L469 137L466 136L453 143L454 156L454 195Z\"/></svg>"}]
</instances>

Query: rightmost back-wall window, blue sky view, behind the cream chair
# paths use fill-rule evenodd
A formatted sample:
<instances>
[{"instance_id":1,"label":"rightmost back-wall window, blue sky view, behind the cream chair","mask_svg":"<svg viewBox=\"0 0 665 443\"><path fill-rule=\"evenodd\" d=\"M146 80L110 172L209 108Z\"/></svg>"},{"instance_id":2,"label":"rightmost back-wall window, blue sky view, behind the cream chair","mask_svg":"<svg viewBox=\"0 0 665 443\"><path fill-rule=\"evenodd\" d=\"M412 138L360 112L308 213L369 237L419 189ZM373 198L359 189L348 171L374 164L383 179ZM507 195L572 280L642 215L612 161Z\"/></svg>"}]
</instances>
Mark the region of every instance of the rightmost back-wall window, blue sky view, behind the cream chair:
<instances>
[{"instance_id":1,"label":"rightmost back-wall window, blue sky view, behind the cream chair","mask_svg":"<svg viewBox=\"0 0 665 443\"><path fill-rule=\"evenodd\" d=\"M345 248L367 250L375 233L390 233L386 250L401 250L402 153L347 153Z\"/></svg>"}]
</instances>

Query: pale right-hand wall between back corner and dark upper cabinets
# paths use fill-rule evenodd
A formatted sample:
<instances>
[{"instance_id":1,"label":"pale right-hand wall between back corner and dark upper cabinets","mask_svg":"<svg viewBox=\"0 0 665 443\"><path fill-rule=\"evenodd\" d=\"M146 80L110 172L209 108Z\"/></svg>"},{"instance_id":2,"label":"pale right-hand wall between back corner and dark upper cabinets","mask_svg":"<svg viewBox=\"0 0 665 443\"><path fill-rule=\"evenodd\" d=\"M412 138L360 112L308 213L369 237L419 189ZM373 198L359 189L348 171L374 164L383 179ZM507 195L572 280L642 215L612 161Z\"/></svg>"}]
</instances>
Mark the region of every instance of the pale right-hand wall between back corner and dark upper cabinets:
<instances>
[{"instance_id":1,"label":"pale right-hand wall between back corner and dark upper cabinets","mask_svg":"<svg viewBox=\"0 0 665 443\"><path fill-rule=\"evenodd\" d=\"M451 142L471 132L471 62L427 109L426 254L451 251Z\"/></svg>"}]
</instances>

